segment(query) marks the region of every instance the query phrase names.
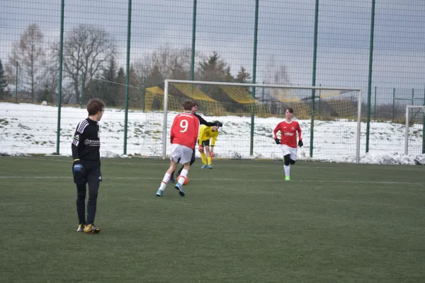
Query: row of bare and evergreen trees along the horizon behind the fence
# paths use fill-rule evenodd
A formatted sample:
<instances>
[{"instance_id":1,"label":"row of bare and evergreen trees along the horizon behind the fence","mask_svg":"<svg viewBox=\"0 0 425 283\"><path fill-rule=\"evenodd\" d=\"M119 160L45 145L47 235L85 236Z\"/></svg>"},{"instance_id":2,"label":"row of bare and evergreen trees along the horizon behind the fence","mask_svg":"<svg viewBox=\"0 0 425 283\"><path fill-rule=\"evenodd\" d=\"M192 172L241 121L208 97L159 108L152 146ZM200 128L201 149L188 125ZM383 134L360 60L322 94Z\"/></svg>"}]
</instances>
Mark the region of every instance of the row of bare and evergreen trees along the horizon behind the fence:
<instances>
[{"instance_id":1,"label":"row of bare and evergreen trees along the horizon behind the fence","mask_svg":"<svg viewBox=\"0 0 425 283\"><path fill-rule=\"evenodd\" d=\"M196 52L194 79L247 83L251 74L241 66L235 76L230 66L217 52L208 55ZM62 47L62 101L80 103L90 98L102 98L108 105L123 105L125 100L125 69L118 66L118 45L110 33L94 25L75 26L64 35ZM55 103L59 84L60 42L47 45L45 36L36 23L23 30L13 42L8 64L0 61L0 99L12 95L11 86L17 85L31 102L47 100ZM288 83L285 67L276 69L266 83ZM164 79L191 79L191 47L165 43L145 57L132 59L129 69L130 101L140 91L159 86ZM216 100L225 96L211 87L208 94ZM270 93L267 94L270 96ZM228 98L227 98L228 99Z\"/></svg>"}]
</instances>

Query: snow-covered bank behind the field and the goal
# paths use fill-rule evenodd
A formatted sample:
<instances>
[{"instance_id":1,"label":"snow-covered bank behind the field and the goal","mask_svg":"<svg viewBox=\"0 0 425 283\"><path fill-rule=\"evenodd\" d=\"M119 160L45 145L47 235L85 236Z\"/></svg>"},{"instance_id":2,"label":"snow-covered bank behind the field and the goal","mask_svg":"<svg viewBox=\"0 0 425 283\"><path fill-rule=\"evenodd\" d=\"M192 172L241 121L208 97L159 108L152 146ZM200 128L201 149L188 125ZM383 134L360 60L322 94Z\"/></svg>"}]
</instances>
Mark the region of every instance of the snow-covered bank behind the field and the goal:
<instances>
[{"instance_id":1,"label":"snow-covered bank behind the field and the goal","mask_svg":"<svg viewBox=\"0 0 425 283\"><path fill-rule=\"evenodd\" d=\"M200 113L202 115L203 113ZM87 115L83 108L62 107L60 154L71 155L75 127ZM169 112L167 128L176 112ZM295 113L296 115L296 113ZM0 103L0 154L54 154L57 151L58 108L50 105ZM250 154L251 117L203 116L205 120L220 120L224 127L215 146L220 158L281 159L280 147L272 138L274 127L281 118L256 117L254 120L253 154ZM296 117L295 117L296 120ZM162 156L162 112L128 112L128 155ZM348 120L314 122L313 158L310 158L310 120L297 120L302 128L304 145L298 149L300 160L333 162L356 161L357 122ZM101 125L101 156L118 157L124 153L125 112L106 109ZM415 164L425 163L421 154L422 125L409 131L409 155L404 155L404 125L371 122L369 153L365 154L365 128L361 123L361 163ZM167 154L169 150L167 133Z\"/></svg>"}]
</instances>

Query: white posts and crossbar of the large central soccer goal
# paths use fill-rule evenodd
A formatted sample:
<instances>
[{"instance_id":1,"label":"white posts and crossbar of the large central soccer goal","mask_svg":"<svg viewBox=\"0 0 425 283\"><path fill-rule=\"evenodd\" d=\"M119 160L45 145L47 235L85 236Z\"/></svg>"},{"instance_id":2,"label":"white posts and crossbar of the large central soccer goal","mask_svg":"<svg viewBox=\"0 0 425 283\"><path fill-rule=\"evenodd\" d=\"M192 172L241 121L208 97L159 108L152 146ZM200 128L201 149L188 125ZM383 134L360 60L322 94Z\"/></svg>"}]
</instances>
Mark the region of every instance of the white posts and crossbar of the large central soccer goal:
<instances>
[{"instance_id":1,"label":"white posts and crossbar of the large central soccer goal","mask_svg":"<svg viewBox=\"0 0 425 283\"><path fill-rule=\"evenodd\" d=\"M327 87L327 86L288 86L288 85L275 85L265 83L226 83L217 81L188 81L188 80L175 80L166 79L164 81L164 129L162 132L162 158L166 157L166 126L167 126L167 112L168 112L168 95L170 83L188 83L188 84L203 84L213 86L243 86L253 88L290 88L290 89L309 89L309 90L324 90L324 91L358 91L358 105L357 105L357 136L356 136L356 163L360 162L360 135L361 135L361 88L344 88L344 87Z\"/></svg>"}]
</instances>

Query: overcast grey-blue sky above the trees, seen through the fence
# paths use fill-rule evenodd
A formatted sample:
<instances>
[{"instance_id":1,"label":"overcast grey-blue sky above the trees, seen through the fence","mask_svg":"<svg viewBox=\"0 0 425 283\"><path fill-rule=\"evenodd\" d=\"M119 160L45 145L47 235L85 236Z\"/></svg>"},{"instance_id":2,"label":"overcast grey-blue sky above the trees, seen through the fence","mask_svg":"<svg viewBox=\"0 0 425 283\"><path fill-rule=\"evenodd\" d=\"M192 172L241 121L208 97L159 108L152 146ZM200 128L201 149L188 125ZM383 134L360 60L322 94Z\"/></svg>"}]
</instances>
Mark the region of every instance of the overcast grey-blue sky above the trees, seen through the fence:
<instances>
[{"instance_id":1,"label":"overcast grey-blue sky above the trees, seen through the fence","mask_svg":"<svg viewBox=\"0 0 425 283\"><path fill-rule=\"evenodd\" d=\"M314 3L259 0L257 83L285 66L291 84L312 84ZM367 93L371 6L372 0L319 0L316 85ZM165 43L190 47L192 11L193 0L132 0L132 62ZM1 0L0 13L4 64L30 23L38 23L47 42L59 40L60 0ZM125 66L127 14L124 0L65 0L65 36L80 23L101 26L117 40L118 62ZM373 86L418 88L424 96L424 15L424 0L376 0ZM254 16L255 0L198 0L196 50L217 51L234 75L241 66L252 73Z\"/></svg>"}]
</instances>

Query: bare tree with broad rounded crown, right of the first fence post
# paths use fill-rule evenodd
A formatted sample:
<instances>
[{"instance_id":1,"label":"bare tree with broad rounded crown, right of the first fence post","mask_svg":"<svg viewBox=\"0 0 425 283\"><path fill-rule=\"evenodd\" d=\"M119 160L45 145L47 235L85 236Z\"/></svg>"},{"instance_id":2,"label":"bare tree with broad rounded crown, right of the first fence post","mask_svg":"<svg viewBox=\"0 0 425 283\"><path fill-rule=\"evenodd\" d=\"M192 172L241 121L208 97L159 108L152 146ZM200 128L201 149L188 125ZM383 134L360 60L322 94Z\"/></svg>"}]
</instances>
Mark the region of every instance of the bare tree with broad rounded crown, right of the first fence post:
<instances>
[{"instance_id":1,"label":"bare tree with broad rounded crown, right of the first fence post","mask_svg":"<svg viewBox=\"0 0 425 283\"><path fill-rule=\"evenodd\" d=\"M81 24L67 33L62 57L64 80L68 79L65 87L74 95L76 102L81 95L81 74L86 86L115 55L116 48L113 37L103 28ZM57 43L52 49L59 57L60 44Z\"/></svg>"}]
</instances>

